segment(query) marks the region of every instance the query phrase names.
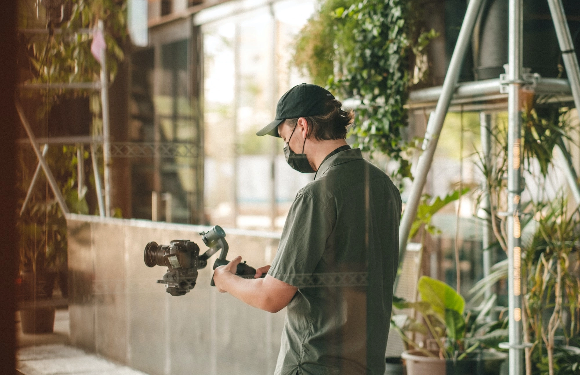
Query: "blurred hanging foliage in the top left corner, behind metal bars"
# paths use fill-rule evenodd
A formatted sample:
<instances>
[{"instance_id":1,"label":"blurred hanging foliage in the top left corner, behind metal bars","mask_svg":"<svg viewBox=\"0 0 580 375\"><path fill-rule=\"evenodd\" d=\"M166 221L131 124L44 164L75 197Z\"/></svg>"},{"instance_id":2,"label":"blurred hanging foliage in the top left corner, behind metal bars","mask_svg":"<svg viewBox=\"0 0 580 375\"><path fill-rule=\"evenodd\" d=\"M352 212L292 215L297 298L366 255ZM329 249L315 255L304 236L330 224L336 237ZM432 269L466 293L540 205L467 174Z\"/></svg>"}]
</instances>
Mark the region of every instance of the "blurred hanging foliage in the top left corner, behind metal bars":
<instances>
[{"instance_id":1,"label":"blurred hanging foliage in the top left corner, behind metal bars","mask_svg":"<svg viewBox=\"0 0 580 375\"><path fill-rule=\"evenodd\" d=\"M50 3L62 3L62 21L51 16ZM48 10L47 10L48 9ZM60 14L60 13L59 13ZM46 33L19 33L20 81L93 82L100 80L101 65L90 52L93 35L80 33L94 29L103 21L106 41L108 79L112 83L119 63L124 59L121 46L127 36L125 0L19 0L18 27L45 29ZM102 134L99 91L44 89L44 115L59 96L88 96L93 113L93 134ZM38 96L38 91L23 91L21 95Z\"/></svg>"}]
</instances>

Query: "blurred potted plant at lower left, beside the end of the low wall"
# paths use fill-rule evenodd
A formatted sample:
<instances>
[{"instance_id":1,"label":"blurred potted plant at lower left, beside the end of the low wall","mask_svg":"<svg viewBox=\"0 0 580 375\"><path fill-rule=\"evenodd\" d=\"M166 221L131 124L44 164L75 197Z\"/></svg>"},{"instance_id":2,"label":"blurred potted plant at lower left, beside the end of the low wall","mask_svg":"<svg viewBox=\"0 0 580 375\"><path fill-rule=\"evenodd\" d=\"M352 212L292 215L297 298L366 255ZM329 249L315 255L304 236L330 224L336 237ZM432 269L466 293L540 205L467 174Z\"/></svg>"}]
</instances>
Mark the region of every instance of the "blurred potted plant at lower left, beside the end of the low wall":
<instances>
[{"instance_id":1,"label":"blurred potted plant at lower left, beside the end of the low wall","mask_svg":"<svg viewBox=\"0 0 580 375\"><path fill-rule=\"evenodd\" d=\"M79 199L78 190L74 186L78 163L76 154L76 150L71 147L60 147L49 150L46 159L57 181L66 181L61 191L68 208L72 212L86 214L88 205L85 197ZM21 152L21 178L17 186L21 197L24 197L31 184L29 172L35 162L34 157ZM20 251L19 295L23 302L20 318L24 333L53 331L55 307L49 300L53 296L56 280L59 280L63 297L67 297L67 275L63 272L67 269L66 218L56 199L46 190L46 181L44 175L41 175L17 221Z\"/></svg>"}]
</instances>

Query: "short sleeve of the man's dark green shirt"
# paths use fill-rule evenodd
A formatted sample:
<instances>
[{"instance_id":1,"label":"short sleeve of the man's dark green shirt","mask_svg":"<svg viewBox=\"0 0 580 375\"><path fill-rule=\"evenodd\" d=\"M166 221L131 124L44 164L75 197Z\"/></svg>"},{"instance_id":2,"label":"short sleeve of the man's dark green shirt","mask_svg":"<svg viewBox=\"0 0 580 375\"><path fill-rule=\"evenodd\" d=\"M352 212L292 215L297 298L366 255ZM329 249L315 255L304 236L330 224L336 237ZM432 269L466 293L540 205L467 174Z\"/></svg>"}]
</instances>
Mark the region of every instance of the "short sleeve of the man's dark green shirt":
<instances>
[{"instance_id":1,"label":"short sleeve of the man's dark green shirt","mask_svg":"<svg viewBox=\"0 0 580 375\"><path fill-rule=\"evenodd\" d=\"M324 254L335 215L308 193L293 201L268 275L295 287L309 279Z\"/></svg>"}]
</instances>

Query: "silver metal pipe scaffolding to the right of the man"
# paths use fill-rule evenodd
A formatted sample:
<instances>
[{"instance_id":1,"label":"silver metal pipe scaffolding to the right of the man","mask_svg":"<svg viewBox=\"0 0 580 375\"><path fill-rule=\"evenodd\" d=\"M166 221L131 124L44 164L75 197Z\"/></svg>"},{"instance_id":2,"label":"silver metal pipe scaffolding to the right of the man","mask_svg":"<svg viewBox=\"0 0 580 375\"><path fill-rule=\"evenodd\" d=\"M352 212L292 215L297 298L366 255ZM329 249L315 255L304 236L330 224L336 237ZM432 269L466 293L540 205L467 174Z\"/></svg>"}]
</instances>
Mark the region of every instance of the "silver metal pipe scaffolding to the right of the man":
<instances>
[{"instance_id":1,"label":"silver metal pipe scaffolding to the right of the man","mask_svg":"<svg viewBox=\"0 0 580 375\"><path fill-rule=\"evenodd\" d=\"M506 99L508 111L508 165L507 168L507 255L508 255L508 288L509 288L509 342L501 345L509 349L509 374L523 374L523 349L530 344L523 342L521 326L521 248L520 248L520 194L523 190L521 163L521 115L522 108L520 94L523 89L532 90L539 94L556 95L556 100L574 101L577 109L580 109L580 68L577 55L574 51L570 29L564 15L561 0L547 0L560 50L564 60L568 80L558 78L542 78L538 74L530 74L522 66L522 40L523 40L523 0L509 0L509 54L506 74L494 80L478 82L465 82L458 85L458 77L463 62L463 57L469 40L473 34L474 24L480 13L483 0L471 0L467 10L459 37L449 63L443 86L423 89L413 92L409 99L413 102L409 107L427 107L430 102L437 100L436 109L429 117L423 153L419 157L415 172L415 179L411 186L409 198L401 226L399 230L399 255L404 259L405 250L412 222L414 221L423 187L427 180L433 155L437 147L437 141L441 134L441 128L445 116L452 104L483 102L485 100ZM570 93L572 98L570 98ZM497 104L494 104L497 106ZM501 104L504 106L505 104ZM481 106L485 108L485 106ZM498 109L498 108L496 108ZM482 116L482 144L487 140L489 121L485 114ZM485 134L484 129L486 128ZM485 139L484 139L485 138ZM484 150L488 157L489 146ZM568 184L572 194L580 204L580 189L577 182L577 174L571 163L570 153L564 142L560 142L556 148L556 160L563 164ZM487 254L489 255L489 254ZM487 259L488 267L490 259ZM484 271L485 272L485 271ZM490 292L491 293L491 292Z\"/></svg>"}]
</instances>

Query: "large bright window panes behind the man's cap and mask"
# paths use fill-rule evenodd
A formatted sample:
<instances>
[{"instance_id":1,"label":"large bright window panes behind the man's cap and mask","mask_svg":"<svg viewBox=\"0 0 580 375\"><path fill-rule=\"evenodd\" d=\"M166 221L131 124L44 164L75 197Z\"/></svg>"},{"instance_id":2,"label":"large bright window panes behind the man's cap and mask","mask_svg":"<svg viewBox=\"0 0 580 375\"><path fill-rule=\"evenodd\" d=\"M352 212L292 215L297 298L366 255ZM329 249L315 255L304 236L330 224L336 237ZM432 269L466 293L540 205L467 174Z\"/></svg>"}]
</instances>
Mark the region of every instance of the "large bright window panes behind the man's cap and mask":
<instances>
[{"instance_id":1,"label":"large bright window panes behind the man's cap and mask","mask_svg":"<svg viewBox=\"0 0 580 375\"><path fill-rule=\"evenodd\" d=\"M313 9L311 1L277 2L202 27L205 208L212 223L270 229L275 215L280 230L296 192L313 178L287 165L280 139L255 135L273 120L280 96L308 81L291 67L291 51Z\"/></svg>"}]
</instances>

